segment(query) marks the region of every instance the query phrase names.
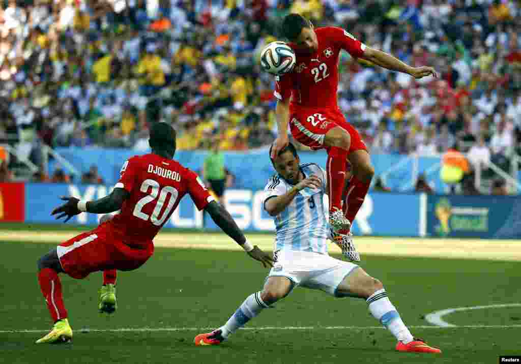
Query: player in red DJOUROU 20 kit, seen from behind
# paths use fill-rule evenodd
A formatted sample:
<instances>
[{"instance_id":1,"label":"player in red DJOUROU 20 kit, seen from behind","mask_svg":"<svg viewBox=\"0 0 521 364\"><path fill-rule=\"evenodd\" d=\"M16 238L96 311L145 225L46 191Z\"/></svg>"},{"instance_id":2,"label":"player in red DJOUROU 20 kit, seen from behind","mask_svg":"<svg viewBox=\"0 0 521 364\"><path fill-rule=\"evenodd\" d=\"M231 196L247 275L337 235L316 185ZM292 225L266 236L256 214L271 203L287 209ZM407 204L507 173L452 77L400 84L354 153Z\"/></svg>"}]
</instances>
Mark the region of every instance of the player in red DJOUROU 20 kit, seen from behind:
<instances>
[{"instance_id":1,"label":"player in red DJOUROU 20 kit, seen from behind","mask_svg":"<svg viewBox=\"0 0 521 364\"><path fill-rule=\"evenodd\" d=\"M149 143L152 153L127 160L110 195L90 202L63 197L67 203L53 210L52 215L58 219L67 217L65 221L82 211L107 214L121 210L121 213L52 249L38 261L38 282L54 327L36 343L72 339L58 273L83 279L89 273L103 270L104 280L115 280L116 269L128 271L141 267L154 252L152 239L187 193L197 208L208 212L222 231L252 258L265 267L271 266L271 257L246 241L233 218L210 196L197 174L172 159L176 152L175 130L166 123L155 123ZM106 273L111 277L105 277Z\"/></svg>"}]
</instances>

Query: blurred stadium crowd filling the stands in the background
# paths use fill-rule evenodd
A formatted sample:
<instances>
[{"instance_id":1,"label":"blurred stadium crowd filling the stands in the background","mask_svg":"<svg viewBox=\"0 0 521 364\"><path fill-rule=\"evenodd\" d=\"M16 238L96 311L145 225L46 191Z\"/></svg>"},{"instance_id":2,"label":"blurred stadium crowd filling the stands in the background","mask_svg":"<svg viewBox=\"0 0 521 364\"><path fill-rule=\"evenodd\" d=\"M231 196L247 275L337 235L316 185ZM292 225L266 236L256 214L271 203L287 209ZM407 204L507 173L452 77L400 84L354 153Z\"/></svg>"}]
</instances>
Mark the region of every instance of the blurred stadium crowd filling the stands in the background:
<instances>
[{"instance_id":1,"label":"blurred stadium crowd filling the stands in the background","mask_svg":"<svg viewBox=\"0 0 521 364\"><path fill-rule=\"evenodd\" d=\"M0 143L145 149L171 122L180 149L276 136L260 49L298 12L438 80L341 57L339 106L372 153L508 158L521 140L521 6L507 0L9 0L0 8ZM488 155L488 157L487 157ZM470 157L469 157L470 158Z\"/></svg>"}]
</instances>

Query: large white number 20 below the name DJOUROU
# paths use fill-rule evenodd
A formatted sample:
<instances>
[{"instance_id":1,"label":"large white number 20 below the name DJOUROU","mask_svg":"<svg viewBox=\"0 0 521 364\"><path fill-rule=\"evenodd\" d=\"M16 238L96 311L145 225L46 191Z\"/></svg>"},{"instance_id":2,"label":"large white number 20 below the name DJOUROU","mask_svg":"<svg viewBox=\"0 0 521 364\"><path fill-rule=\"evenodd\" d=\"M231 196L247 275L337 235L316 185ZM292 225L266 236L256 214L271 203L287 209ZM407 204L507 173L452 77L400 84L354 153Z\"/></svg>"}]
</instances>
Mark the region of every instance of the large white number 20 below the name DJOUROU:
<instances>
[{"instance_id":1,"label":"large white number 20 below the name DJOUROU","mask_svg":"<svg viewBox=\"0 0 521 364\"><path fill-rule=\"evenodd\" d=\"M134 212L132 215L135 217L138 217L142 220L148 221L150 218L150 221L156 225L159 226L163 222L165 222L165 219L170 214L170 211L172 210L173 205L175 205L177 197L179 196L179 191L175 189L172 186L165 186L161 191L159 192L159 183L157 183L154 180L144 180L143 184L141 184L140 191L143 193L147 193L147 195L143 198L141 198L137 204L135 204ZM148 190L152 189L150 194L148 194ZM157 195L159 195L159 198L157 198ZM163 215L159 217L159 214L161 213L161 210L163 209L163 205L165 204L166 200L168 199L168 205L163 212ZM142 209L145 207L145 205L150 204L154 200L156 200L156 206L154 207L154 211L152 211L152 214L149 216L145 214Z\"/></svg>"}]
</instances>

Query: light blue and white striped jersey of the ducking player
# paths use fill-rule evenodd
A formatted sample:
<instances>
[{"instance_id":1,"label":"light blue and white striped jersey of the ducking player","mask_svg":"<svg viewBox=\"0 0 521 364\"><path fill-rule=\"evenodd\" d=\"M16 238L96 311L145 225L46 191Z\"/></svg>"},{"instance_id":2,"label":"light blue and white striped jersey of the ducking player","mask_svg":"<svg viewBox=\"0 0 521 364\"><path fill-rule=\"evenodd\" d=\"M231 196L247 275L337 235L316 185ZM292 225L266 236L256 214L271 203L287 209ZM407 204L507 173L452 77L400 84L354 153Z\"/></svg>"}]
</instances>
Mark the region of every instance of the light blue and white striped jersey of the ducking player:
<instances>
[{"instance_id":1,"label":"light blue and white striped jersey of the ducking player","mask_svg":"<svg viewBox=\"0 0 521 364\"><path fill-rule=\"evenodd\" d=\"M277 236L274 251L280 249L299 250L327 254L328 219L324 208L326 190L326 171L314 163L300 166L304 178L315 174L321 181L320 189L309 187L300 191L292 202L275 216ZM293 185L279 174L274 175L264 191L264 203L275 196L287 193Z\"/></svg>"}]
</instances>

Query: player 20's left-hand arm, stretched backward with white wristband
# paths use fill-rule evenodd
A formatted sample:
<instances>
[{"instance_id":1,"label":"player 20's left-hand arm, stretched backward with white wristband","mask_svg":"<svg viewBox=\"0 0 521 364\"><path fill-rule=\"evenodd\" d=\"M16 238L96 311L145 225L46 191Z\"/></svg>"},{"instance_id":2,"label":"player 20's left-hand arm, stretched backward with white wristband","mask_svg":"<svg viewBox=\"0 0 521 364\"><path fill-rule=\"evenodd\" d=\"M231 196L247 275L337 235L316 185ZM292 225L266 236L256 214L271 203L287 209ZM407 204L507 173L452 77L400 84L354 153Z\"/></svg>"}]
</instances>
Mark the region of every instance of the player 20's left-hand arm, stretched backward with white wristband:
<instances>
[{"instance_id":1,"label":"player 20's left-hand arm, stretched backward with white wristband","mask_svg":"<svg viewBox=\"0 0 521 364\"><path fill-rule=\"evenodd\" d=\"M130 194L127 190L118 187L114 189L110 195L89 202L80 200L76 197L61 197L61 199L67 202L55 208L51 212L51 215L59 214L56 216L56 219L66 217L64 222L67 222L71 217L80 214L80 212L108 214L108 212L120 210L123 201L125 201L129 196Z\"/></svg>"}]
</instances>

